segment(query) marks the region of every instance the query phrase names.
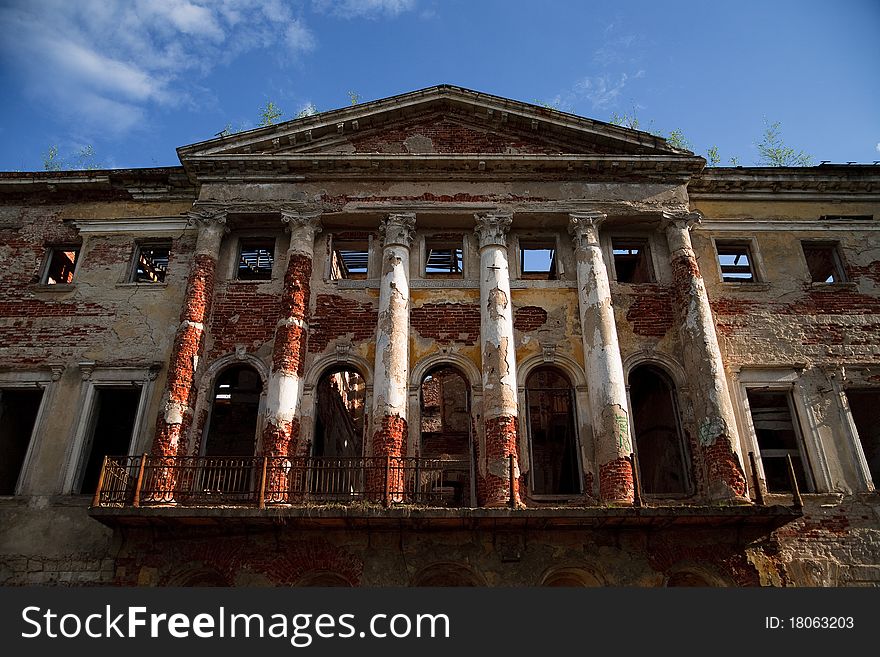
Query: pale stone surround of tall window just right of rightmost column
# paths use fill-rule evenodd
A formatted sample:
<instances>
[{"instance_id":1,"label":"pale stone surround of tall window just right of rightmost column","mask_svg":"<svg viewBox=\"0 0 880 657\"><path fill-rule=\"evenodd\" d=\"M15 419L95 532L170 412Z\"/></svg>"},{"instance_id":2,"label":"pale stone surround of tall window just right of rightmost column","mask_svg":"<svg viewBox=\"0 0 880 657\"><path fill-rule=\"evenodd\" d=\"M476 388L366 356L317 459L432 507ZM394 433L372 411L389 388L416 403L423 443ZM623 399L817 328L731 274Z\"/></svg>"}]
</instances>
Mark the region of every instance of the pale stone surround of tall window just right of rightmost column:
<instances>
[{"instance_id":1,"label":"pale stone surround of tall window just right of rightmost column","mask_svg":"<svg viewBox=\"0 0 880 657\"><path fill-rule=\"evenodd\" d=\"M801 493L824 493L832 489L831 473L828 468L825 449L820 441L818 432L813 429L816 425L816 418L810 410L810 406L806 403L801 381L802 371L803 368L799 366L755 367L738 369L733 373L734 382L730 388L734 397L737 421L740 425L739 433L743 465L745 466L749 489L753 488L754 482L752 481L748 453L754 452L758 477L764 482L764 492L767 492L764 468L761 463L761 450L758 446L755 429L752 426L751 408L746 396L746 391L751 388L787 392L791 395L795 411L792 419L794 420L795 431L798 434L804 475L812 487L812 490L801 491ZM754 491L752 492L754 494Z\"/></svg>"}]
</instances>

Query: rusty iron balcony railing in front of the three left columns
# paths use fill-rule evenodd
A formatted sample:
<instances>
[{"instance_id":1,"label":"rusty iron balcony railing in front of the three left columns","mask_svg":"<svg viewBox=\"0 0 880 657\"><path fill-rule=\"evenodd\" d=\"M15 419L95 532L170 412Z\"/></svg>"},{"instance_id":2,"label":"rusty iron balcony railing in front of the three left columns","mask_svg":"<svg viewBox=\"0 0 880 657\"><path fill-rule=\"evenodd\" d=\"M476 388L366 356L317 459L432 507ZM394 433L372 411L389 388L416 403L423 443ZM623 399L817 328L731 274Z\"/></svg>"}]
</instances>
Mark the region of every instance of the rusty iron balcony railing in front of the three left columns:
<instances>
[{"instance_id":1,"label":"rusty iron balcony railing in front of the three left columns","mask_svg":"<svg viewBox=\"0 0 880 657\"><path fill-rule=\"evenodd\" d=\"M474 504L467 460L419 457L108 456L95 507L372 502Z\"/></svg>"}]
</instances>

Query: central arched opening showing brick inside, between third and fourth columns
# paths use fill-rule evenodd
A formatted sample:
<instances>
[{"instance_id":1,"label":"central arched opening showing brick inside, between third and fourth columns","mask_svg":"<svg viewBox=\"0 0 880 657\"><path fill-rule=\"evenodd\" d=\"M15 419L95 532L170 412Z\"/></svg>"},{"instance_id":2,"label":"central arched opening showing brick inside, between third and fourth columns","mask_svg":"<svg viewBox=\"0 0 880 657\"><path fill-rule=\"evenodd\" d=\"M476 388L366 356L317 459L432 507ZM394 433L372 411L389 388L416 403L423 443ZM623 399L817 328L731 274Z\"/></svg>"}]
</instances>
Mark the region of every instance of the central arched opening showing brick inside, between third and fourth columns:
<instances>
[{"instance_id":1,"label":"central arched opening showing brick inside, between third and fourth columns","mask_svg":"<svg viewBox=\"0 0 880 657\"><path fill-rule=\"evenodd\" d=\"M421 385L421 456L442 459L436 470L426 471L422 490L430 501L451 506L474 506L470 386L452 367L428 373Z\"/></svg>"}]
</instances>

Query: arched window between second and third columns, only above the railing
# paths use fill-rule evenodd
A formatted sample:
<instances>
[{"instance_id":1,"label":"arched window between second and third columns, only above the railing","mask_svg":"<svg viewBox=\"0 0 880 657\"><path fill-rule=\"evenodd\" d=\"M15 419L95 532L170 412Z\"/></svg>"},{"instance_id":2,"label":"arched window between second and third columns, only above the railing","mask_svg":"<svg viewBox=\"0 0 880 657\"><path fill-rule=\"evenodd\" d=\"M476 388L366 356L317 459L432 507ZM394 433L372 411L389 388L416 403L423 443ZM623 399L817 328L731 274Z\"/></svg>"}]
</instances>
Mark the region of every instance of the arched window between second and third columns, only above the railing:
<instances>
[{"instance_id":1,"label":"arched window between second and third columns, only above the railing","mask_svg":"<svg viewBox=\"0 0 880 657\"><path fill-rule=\"evenodd\" d=\"M367 386L351 367L333 369L318 381L312 454L316 457L361 457Z\"/></svg>"}]
</instances>

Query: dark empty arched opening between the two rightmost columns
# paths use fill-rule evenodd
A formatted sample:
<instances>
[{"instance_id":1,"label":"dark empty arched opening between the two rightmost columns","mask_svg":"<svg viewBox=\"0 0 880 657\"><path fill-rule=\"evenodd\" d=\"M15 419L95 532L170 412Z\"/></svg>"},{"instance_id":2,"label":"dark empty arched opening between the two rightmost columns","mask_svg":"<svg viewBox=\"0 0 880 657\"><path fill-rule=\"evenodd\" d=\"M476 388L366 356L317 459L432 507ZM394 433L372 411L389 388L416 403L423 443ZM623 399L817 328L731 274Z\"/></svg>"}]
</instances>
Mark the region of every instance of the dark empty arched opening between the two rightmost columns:
<instances>
[{"instance_id":1,"label":"dark empty arched opening between the two rightmost columns","mask_svg":"<svg viewBox=\"0 0 880 657\"><path fill-rule=\"evenodd\" d=\"M641 365L629 376L635 452L642 490L653 495L690 491L675 389L657 368Z\"/></svg>"}]
</instances>

